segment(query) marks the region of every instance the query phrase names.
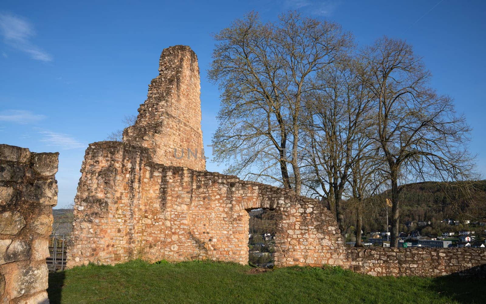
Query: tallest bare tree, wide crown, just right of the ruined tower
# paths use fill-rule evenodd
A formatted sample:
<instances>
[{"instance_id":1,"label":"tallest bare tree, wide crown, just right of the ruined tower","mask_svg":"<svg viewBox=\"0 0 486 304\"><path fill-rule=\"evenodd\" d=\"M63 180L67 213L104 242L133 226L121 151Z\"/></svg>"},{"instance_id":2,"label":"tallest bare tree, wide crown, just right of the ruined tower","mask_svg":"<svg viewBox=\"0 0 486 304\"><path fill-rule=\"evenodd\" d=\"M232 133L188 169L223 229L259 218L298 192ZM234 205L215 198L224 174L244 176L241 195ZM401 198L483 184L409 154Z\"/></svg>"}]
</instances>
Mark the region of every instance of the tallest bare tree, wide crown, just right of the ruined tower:
<instances>
[{"instance_id":1,"label":"tallest bare tree, wide crown, just right of the ruined tower","mask_svg":"<svg viewBox=\"0 0 486 304\"><path fill-rule=\"evenodd\" d=\"M317 71L346 55L351 35L296 12L265 24L251 12L214 38L209 78L223 91L213 137L216 161L238 153L241 159L229 161L228 173L273 179L300 194L302 96L316 89ZM255 168L260 172L251 172Z\"/></svg>"}]
</instances>

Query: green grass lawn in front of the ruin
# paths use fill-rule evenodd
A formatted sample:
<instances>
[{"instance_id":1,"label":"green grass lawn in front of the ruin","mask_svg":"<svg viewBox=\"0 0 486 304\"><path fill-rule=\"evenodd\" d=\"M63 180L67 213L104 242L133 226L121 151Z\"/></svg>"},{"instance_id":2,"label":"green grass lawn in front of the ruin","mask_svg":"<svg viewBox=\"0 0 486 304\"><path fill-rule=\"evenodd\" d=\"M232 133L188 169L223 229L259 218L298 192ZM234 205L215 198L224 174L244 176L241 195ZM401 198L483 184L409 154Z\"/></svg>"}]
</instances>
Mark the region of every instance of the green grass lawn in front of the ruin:
<instances>
[{"instance_id":1,"label":"green grass lawn in front of the ruin","mask_svg":"<svg viewBox=\"0 0 486 304\"><path fill-rule=\"evenodd\" d=\"M372 277L341 268L293 267L251 274L217 262L137 260L49 275L55 303L486 303L485 279Z\"/></svg>"}]
</instances>

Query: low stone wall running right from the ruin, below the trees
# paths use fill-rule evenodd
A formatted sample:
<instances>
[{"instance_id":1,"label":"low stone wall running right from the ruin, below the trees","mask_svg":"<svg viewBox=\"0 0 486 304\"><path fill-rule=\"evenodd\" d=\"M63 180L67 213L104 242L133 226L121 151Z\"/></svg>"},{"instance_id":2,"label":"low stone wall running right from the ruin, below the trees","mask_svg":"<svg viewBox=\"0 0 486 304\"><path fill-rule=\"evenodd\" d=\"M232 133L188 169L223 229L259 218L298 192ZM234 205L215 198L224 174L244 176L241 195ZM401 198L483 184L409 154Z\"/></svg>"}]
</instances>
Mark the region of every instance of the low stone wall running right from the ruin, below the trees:
<instances>
[{"instance_id":1,"label":"low stone wall running right from the ruin, below the trees","mask_svg":"<svg viewBox=\"0 0 486 304\"><path fill-rule=\"evenodd\" d=\"M486 277L486 250L481 248L352 247L347 251L351 270L374 276Z\"/></svg>"}]
</instances>

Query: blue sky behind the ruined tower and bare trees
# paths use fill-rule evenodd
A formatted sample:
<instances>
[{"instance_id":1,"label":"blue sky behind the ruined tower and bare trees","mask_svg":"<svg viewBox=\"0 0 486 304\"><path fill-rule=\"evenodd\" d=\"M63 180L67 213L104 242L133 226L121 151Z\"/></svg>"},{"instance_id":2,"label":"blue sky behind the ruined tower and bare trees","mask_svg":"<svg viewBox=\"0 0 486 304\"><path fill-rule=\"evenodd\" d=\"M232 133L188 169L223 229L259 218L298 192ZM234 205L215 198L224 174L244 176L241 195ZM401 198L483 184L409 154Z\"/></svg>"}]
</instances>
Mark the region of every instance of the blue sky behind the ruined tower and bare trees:
<instances>
[{"instance_id":1,"label":"blue sky behind the ruined tower and bare trees","mask_svg":"<svg viewBox=\"0 0 486 304\"><path fill-rule=\"evenodd\" d=\"M0 143L59 151L57 208L72 202L88 143L137 114L162 50L189 45L201 70L205 144L218 89L206 78L218 32L245 12L264 20L298 9L353 32L359 45L404 38L473 126L470 149L486 173L484 1L11 1L0 4ZM208 162L208 171L222 171Z\"/></svg>"}]
</instances>

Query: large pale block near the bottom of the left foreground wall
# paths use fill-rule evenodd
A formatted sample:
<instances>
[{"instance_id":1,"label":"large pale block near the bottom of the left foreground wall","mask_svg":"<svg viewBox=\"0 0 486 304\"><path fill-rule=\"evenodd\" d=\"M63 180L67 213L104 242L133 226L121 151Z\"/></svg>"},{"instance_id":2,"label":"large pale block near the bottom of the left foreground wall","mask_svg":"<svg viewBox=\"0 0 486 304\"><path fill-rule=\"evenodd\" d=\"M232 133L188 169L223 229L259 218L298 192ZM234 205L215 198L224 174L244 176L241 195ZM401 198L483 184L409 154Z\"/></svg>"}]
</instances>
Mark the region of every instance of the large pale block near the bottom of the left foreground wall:
<instances>
[{"instance_id":1,"label":"large pale block near the bottom of the left foreground wall","mask_svg":"<svg viewBox=\"0 0 486 304\"><path fill-rule=\"evenodd\" d=\"M47 264L17 268L12 276L12 298L46 290L48 287Z\"/></svg>"}]
</instances>

